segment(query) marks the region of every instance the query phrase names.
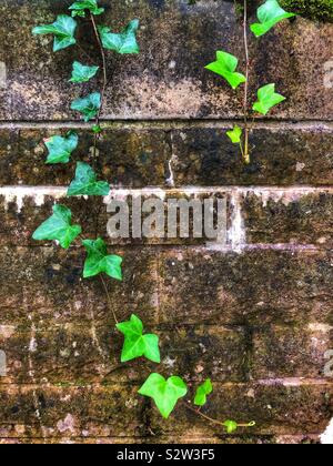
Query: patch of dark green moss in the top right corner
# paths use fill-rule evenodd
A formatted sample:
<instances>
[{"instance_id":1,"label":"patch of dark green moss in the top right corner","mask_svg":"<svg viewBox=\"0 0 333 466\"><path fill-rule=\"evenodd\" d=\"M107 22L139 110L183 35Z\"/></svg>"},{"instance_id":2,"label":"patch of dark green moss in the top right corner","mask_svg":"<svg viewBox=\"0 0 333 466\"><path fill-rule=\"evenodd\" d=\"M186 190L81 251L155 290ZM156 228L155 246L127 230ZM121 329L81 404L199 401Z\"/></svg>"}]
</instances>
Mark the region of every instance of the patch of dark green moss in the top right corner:
<instances>
[{"instance_id":1,"label":"patch of dark green moss in the top right corner","mask_svg":"<svg viewBox=\"0 0 333 466\"><path fill-rule=\"evenodd\" d=\"M280 4L306 18L333 22L333 0L280 0Z\"/></svg>"}]
</instances>

